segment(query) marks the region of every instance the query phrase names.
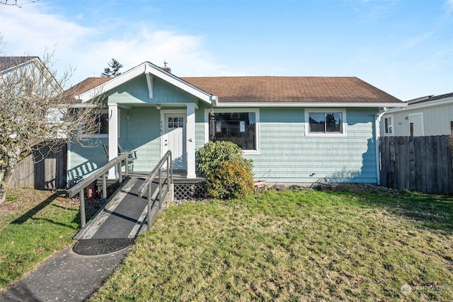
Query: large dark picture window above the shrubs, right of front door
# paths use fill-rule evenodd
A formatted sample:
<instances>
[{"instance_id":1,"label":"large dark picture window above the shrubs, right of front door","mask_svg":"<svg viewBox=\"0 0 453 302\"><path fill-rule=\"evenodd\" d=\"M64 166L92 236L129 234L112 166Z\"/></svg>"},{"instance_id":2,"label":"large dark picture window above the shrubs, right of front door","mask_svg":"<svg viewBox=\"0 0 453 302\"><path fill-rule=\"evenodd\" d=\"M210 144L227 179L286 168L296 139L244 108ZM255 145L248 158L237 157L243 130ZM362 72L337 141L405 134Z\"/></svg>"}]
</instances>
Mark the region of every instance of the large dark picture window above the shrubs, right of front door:
<instances>
[{"instance_id":1,"label":"large dark picture window above the shrubs, right of front door","mask_svg":"<svg viewBox=\"0 0 453 302\"><path fill-rule=\"evenodd\" d=\"M208 116L209 119L209 116ZM258 151L258 112L214 112L210 141L232 141L243 151Z\"/></svg>"}]
</instances>

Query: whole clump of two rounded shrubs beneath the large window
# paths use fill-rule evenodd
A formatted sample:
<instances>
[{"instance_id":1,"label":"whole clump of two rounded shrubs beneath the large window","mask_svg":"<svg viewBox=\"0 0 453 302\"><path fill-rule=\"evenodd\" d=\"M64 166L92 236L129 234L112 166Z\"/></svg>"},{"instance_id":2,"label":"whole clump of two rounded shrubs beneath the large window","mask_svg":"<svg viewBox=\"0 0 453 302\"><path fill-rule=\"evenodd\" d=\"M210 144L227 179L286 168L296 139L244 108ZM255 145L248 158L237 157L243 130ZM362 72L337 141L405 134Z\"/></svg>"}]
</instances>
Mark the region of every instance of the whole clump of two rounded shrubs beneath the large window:
<instances>
[{"instance_id":1,"label":"whole clump of two rounded shrubs beneath the large window","mask_svg":"<svg viewBox=\"0 0 453 302\"><path fill-rule=\"evenodd\" d=\"M220 199L253 192L253 161L231 141L210 141L197 151L197 168L206 178L207 194Z\"/></svg>"}]
</instances>

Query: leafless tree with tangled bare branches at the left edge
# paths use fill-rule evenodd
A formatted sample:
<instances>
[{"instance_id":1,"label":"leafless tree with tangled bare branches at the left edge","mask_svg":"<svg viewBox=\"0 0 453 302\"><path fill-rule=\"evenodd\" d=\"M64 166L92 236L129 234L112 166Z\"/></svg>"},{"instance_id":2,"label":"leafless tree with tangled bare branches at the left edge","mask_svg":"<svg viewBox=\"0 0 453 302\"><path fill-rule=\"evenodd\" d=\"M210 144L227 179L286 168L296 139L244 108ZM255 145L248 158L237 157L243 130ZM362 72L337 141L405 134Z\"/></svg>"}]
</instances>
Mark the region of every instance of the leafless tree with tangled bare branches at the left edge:
<instances>
[{"instance_id":1,"label":"leafless tree with tangled bare branches at the left edge","mask_svg":"<svg viewBox=\"0 0 453 302\"><path fill-rule=\"evenodd\" d=\"M81 104L74 98L76 88L64 92L71 74L55 79L52 56L0 57L0 203L23 158L43 146L57 151L68 141L88 144L100 127L103 99Z\"/></svg>"}]
</instances>

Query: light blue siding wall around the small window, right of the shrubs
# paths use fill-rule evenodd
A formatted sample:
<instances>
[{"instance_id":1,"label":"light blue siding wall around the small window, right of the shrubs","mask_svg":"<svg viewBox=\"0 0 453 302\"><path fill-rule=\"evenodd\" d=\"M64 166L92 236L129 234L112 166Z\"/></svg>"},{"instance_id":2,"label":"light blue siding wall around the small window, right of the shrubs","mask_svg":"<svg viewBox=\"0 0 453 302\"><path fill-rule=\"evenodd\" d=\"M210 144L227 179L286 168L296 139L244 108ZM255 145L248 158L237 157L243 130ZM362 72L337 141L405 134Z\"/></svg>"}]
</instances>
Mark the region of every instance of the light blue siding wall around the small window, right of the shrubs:
<instances>
[{"instance_id":1,"label":"light blue siding wall around the small window, right of the shrubs","mask_svg":"<svg viewBox=\"0 0 453 302\"><path fill-rule=\"evenodd\" d=\"M268 182L377 182L376 110L347 109L347 137L306 137L303 108L260 110L260 154L248 155ZM312 176L311 176L312 175Z\"/></svg>"}]
</instances>

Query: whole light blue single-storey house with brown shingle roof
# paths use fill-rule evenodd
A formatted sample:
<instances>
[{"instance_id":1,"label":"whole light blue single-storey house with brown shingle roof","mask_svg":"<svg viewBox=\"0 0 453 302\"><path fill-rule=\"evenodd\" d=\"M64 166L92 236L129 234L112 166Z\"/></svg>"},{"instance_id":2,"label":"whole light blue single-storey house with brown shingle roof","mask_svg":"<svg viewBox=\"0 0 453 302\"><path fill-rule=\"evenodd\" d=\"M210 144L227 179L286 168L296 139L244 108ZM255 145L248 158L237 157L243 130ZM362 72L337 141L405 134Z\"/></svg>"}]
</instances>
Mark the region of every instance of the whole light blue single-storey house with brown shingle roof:
<instances>
[{"instance_id":1,"label":"whole light blue single-storey house with brown shingle roof","mask_svg":"<svg viewBox=\"0 0 453 302\"><path fill-rule=\"evenodd\" d=\"M375 184L382 108L406 105L355 77L179 78L149 62L84 82L76 99L106 93L108 127L93 137L95 148L69 146L69 185L107 163L103 145L110 160L118 145L136 151L134 172L151 171L171 150L173 168L195 178L195 151L212 139L241 146L256 179Z\"/></svg>"}]
</instances>

